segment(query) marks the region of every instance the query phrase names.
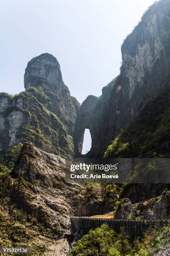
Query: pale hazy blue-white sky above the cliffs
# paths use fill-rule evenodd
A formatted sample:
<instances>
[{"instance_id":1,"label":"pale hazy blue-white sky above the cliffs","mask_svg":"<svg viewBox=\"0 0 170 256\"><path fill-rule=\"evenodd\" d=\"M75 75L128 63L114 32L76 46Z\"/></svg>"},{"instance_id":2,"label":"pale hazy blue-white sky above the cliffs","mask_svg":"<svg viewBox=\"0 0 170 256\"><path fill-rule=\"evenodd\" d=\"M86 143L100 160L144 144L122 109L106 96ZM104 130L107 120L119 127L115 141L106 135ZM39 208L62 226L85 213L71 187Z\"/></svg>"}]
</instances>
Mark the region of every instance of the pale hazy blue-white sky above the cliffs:
<instances>
[{"instance_id":1,"label":"pale hazy blue-white sky above the cliffs","mask_svg":"<svg viewBox=\"0 0 170 256\"><path fill-rule=\"evenodd\" d=\"M119 74L123 40L153 2L0 0L0 92L23 91L28 61L48 52L80 103L88 95L101 95ZM90 147L86 141L83 151Z\"/></svg>"}]
</instances>

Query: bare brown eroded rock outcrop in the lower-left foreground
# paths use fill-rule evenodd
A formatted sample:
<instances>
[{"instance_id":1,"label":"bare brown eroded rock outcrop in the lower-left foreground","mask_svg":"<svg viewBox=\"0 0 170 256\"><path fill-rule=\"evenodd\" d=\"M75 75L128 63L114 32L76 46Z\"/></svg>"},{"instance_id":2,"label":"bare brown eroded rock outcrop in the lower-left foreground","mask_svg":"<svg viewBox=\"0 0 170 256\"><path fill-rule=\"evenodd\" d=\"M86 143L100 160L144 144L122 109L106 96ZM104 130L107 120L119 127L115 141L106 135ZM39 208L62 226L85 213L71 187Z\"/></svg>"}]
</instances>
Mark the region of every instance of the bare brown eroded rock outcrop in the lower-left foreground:
<instances>
[{"instance_id":1,"label":"bare brown eroded rock outcrop in the lower-left foreground","mask_svg":"<svg viewBox=\"0 0 170 256\"><path fill-rule=\"evenodd\" d=\"M24 179L14 192L18 207L36 215L57 234L68 232L70 216L83 201L85 187L65 179L65 159L25 143L13 175Z\"/></svg>"}]
</instances>

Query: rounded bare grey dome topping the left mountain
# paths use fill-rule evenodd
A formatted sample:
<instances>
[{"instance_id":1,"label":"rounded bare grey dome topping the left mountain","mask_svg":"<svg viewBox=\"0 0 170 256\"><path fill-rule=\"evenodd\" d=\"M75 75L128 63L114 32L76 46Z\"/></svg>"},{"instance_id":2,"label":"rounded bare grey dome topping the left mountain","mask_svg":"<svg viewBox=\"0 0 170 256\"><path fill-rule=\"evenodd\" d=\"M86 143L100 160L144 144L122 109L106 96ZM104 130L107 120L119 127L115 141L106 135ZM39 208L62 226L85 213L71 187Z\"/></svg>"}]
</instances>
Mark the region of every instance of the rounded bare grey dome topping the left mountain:
<instances>
[{"instance_id":1,"label":"rounded bare grey dome topping the left mountain","mask_svg":"<svg viewBox=\"0 0 170 256\"><path fill-rule=\"evenodd\" d=\"M24 87L37 87L46 84L53 90L61 87L60 64L52 54L41 54L28 62L24 74Z\"/></svg>"}]
</instances>

